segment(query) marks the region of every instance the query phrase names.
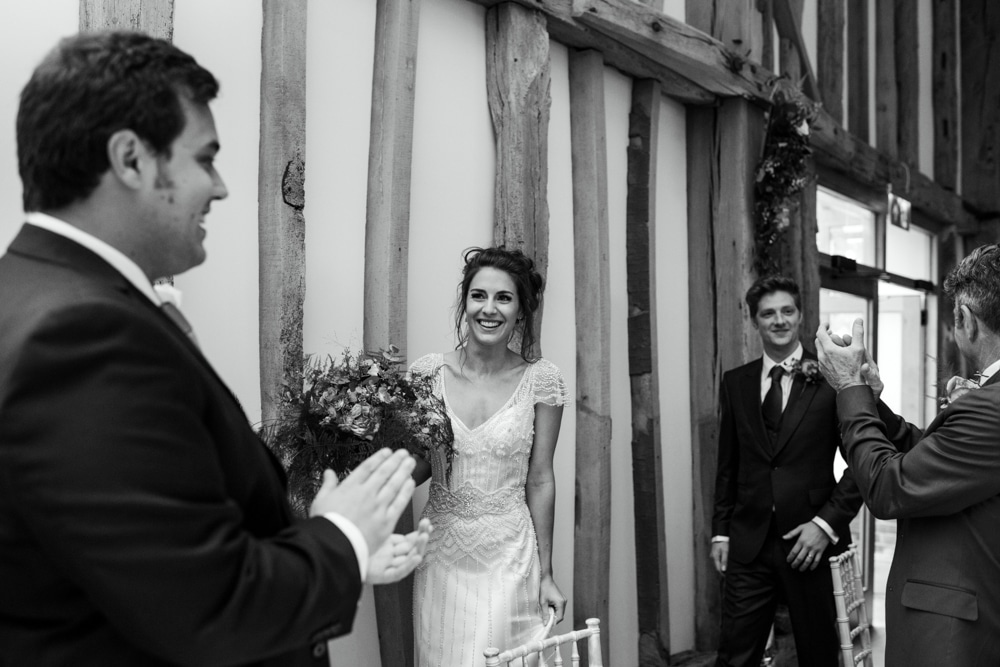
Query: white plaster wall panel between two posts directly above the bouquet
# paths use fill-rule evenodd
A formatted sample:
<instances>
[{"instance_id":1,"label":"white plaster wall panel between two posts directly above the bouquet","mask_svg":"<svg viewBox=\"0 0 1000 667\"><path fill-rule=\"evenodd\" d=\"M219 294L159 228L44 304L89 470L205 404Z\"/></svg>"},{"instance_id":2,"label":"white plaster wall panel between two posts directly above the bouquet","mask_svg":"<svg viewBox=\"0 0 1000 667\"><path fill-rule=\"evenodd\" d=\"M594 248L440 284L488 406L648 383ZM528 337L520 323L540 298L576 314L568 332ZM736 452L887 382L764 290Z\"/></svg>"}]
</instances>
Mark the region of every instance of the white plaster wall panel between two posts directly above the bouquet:
<instances>
[{"instance_id":1,"label":"white plaster wall panel between two posts directly above the bouquet","mask_svg":"<svg viewBox=\"0 0 1000 667\"><path fill-rule=\"evenodd\" d=\"M368 130L375 3L310 2L306 51L306 296L303 350L361 349ZM372 587L351 634L330 642L334 665L378 664Z\"/></svg>"}]
</instances>

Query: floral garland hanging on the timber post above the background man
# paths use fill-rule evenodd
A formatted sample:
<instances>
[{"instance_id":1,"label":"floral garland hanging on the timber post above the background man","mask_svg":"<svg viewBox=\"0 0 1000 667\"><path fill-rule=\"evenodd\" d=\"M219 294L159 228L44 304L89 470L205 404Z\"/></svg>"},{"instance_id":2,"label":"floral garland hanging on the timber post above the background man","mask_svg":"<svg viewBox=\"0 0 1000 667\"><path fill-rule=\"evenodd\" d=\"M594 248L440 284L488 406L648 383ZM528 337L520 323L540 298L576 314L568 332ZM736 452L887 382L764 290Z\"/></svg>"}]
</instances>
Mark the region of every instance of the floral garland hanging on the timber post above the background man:
<instances>
[{"instance_id":1,"label":"floral garland hanging on the timber post above the background man","mask_svg":"<svg viewBox=\"0 0 1000 667\"><path fill-rule=\"evenodd\" d=\"M754 186L754 270L758 276L780 271L778 241L798 206L794 199L809 180L809 128L818 107L787 79L776 82L763 157Z\"/></svg>"}]
</instances>

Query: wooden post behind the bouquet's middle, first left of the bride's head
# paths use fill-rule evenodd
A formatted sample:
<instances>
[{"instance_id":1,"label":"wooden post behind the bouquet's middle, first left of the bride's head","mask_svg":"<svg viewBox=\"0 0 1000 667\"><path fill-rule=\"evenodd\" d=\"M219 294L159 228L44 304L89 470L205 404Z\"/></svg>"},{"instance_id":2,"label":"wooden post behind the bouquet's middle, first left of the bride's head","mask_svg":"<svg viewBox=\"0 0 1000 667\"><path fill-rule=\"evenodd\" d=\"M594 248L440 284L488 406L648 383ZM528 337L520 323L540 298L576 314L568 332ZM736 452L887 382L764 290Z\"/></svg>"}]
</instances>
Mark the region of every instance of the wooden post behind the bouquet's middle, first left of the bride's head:
<instances>
[{"instance_id":1,"label":"wooden post behind the bouquet's middle, first left of the bride's head","mask_svg":"<svg viewBox=\"0 0 1000 667\"><path fill-rule=\"evenodd\" d=\"M362 339L365 349L392 344L404 356L419 17L420 0L378 0L375 6ZM411 505L396 530L412 529ZM412 665L412 578L376 587L375 613L382 664Z\"/></svg>"}]
</instances>

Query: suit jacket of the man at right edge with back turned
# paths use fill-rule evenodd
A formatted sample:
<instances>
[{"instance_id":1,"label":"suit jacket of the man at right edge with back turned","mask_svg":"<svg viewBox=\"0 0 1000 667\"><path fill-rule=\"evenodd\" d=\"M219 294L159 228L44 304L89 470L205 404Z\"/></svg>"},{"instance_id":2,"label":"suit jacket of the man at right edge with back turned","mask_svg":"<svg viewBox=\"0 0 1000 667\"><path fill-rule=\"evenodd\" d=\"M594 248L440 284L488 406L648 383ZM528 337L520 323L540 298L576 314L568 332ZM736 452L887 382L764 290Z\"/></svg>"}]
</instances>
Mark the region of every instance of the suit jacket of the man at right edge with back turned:
<instances>
[{"instance_id":1,"label":"suit jacket of the man at right edge with back turned","mask_svg":"<svg viewBox=\"0 0 1000 667\"><path fill-rule=\"evenodd\" d=\"M885 664L1000 665L1000 374L923 432L867 387L837 403L865 502L897 520Z\"/></svg>"}]
</instances>

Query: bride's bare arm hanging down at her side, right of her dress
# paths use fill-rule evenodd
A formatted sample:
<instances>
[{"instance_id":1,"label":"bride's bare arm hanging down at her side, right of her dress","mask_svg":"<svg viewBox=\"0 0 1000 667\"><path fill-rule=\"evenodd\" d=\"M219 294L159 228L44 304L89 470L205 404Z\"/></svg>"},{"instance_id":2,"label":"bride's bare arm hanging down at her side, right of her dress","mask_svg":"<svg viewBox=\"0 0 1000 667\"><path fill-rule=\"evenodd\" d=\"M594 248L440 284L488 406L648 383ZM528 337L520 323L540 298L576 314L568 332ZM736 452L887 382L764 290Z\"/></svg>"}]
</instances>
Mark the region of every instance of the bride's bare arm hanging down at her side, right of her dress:
<instances>
[{"instance_id":1,"label":"bride's bare arm hanging down at her side, right of her dress","mask_svg":"<svg viewBox=\"0 0 1000 667\"><path fill-rule=\"evenodd\" d=\"M538 537L538 559L541 566L538 602L545 615L548 615L549 607L554 608L557 620L562 620L566 598L552 578L552 523L556 502L552 457L559 438L562 412L562 406L535 404L535 440L531 447L528 481L525 485L528 512Z\"/></svg>"}]
</instances>

